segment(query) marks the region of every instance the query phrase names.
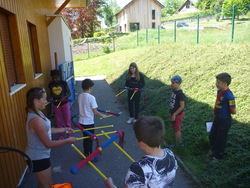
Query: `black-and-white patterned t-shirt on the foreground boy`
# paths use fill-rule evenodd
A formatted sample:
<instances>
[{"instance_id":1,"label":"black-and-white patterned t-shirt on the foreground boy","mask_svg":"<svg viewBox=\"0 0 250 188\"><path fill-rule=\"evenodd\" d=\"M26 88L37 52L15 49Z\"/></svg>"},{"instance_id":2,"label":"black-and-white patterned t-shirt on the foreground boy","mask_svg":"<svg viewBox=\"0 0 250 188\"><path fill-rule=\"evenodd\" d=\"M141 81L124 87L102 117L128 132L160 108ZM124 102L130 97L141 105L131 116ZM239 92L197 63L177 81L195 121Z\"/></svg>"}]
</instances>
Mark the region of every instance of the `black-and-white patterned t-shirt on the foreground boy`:
<instances>
[{"instance_id":1,"label":"black-and-white patterned t-shirt on the foreground boy","mask_svg":"<svg viewBox=\"0 0 250 188\"><path fill-rule=\"evenodd\" d=\"M174 183L178 168L174 154L163 149L162 158L145 155L130 166L124 184L129 188L167 188Z\"/></svg>"}]
</instances>

